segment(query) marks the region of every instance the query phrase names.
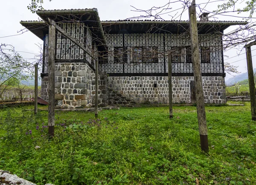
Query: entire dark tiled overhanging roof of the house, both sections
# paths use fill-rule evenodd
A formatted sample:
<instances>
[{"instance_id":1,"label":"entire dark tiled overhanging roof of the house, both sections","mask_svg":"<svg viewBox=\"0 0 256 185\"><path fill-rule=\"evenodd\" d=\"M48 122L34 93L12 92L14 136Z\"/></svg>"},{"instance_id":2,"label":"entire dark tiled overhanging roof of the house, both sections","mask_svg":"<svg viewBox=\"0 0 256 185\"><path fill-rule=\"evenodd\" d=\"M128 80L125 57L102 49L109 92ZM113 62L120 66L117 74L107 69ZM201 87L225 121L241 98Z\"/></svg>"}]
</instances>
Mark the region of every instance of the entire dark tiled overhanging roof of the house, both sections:
<instances>
[{"instance_id":1,"label":"entire dark tiled overhanging roof of the house, both sections","mask_svg":"<svg viewBox=\"0 0 256 185\"><path fill-rule=\"evenodd\" d=\"M90 28L93 39L100 50L105 50L106 33L172 33L179 34L189 31L189 21L180 20L117 20L100 21L98 10L93 9L63 9L39 10L36 13L43 21L21 21L20 23L43 40L48 32L48 18L56 23L84 23ZM197 21L198 33L209 34L216 31L223 32L232 25L245 25L245 21Z\"/></svg>"}]
</instances>

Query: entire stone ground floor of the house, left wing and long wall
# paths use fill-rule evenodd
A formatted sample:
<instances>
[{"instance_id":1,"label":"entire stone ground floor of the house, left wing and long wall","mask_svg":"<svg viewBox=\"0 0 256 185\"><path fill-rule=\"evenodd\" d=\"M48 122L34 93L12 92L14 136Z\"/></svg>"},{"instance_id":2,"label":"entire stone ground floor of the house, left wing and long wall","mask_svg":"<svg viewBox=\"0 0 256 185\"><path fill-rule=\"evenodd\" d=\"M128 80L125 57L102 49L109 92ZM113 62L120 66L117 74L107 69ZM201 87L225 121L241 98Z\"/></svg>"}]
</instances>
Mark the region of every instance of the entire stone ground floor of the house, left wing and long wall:
<instances>
[{"instance_id":1,"label":"entire stone ground floor of the house, left wing and long wall","mask_svg":"<svg viewBox=\"0 0 256 185\"><path fill-rule=\"evenodd\" d=\"M48 77L41 94L48 100ZM226 103L224 77L202 77L205 103ZM168 104L168 77L108 77L99 71L99 107L107 105ZM172 77L173 103L195 103L194 77ZM194 94L194 95L193 95ZM55 65L56 108L95 105L95 72L85 63Z\"/></svg>"}]
</instances>

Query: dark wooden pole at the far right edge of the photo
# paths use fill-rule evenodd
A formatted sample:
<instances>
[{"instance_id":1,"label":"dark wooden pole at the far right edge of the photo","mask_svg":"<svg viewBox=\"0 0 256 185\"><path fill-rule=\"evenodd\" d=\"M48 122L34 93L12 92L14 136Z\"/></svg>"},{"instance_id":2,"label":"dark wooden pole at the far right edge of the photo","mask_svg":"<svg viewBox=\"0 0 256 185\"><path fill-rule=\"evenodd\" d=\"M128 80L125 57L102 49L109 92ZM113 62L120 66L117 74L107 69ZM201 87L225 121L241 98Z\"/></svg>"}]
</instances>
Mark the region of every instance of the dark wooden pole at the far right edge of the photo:
<instances>
[{"instance_id":1,"label":"dark wooden pole at the far right edge of the photo","mask_svg":"<svg viewBox=\"0 0 256 185\"><path fill-rule=\"evenodd\" d=\"M255 99L255 85L254 85L254 77L253 77L253 60L251 48L246 47L246 60L247 60L247 71L248 71L248 82L250 89L250 103L251 103L251 114L252 120L256 121L256 99Z\"/></svg>"}]
</instances>

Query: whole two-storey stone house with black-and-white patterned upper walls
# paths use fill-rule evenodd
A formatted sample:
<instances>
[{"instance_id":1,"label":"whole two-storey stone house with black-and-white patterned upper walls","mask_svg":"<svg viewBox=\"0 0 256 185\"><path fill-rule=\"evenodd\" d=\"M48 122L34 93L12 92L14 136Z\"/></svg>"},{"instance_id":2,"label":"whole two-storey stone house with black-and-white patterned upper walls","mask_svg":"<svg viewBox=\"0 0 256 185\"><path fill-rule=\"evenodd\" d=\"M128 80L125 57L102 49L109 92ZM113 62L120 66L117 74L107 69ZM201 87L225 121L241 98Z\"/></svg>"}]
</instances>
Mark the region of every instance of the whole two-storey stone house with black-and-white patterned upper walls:
<instances>
[{"instance_id":1,"label":"whole two-storey stone house with black-and-white patterned upper walls","mask_svg":"<svg viewBox=\"0 0 256 185\"><path fill-rule=\"evenodd\" d=\"M56 31L55 100L59 108L90 107L95 100L99 59L99 105L167 104L168 60L172 60L173 103L195 102L188 21L101 21L97 9L39 10L42 21L20 23L44 41L41 97L48 85L48 18L87 49ZM222 34L238 21L198 21L206 103L226 103ZM168 57L170 56L170 57Z\"/></svg>"}]
</instances>

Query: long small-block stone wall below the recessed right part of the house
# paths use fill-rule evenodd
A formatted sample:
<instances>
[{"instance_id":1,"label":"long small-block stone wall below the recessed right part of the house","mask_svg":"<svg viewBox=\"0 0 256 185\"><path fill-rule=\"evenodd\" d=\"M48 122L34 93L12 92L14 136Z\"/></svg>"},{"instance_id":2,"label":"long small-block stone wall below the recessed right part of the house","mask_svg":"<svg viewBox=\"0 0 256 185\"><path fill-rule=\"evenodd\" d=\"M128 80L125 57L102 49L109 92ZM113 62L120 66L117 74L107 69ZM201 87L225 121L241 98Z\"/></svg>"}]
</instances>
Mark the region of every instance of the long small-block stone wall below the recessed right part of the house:
<instances>
[{"instance_id":1,"label":"long small-block stone wall below the recessed right part of the house","mask_svg":"<svg viewBox=\"0 0 256 185\"><path fill-rule=\"evenodd\" d=\"M109 103L168 104L168 77L108 77ZM191 103L194 77L172 77L173 103ZM206 103L226 103L224 77L203 77Z\"/></svg>"}]
</instances>

